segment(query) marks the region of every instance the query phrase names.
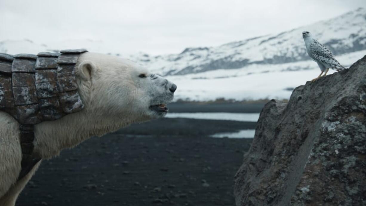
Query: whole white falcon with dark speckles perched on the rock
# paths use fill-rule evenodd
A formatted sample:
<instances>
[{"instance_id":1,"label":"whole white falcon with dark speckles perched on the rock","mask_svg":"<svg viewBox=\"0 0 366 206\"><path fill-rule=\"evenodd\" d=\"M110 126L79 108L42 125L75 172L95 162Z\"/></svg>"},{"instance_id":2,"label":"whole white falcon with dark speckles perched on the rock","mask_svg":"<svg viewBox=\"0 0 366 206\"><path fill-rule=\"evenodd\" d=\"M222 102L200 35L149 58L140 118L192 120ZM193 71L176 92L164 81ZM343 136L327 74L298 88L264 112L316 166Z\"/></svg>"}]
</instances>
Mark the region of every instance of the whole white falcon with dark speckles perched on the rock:
<instances>
[{"instance_id":1,"label":"whole white falcon with dark speckles perched on the rock","mask_svg":"<svg viewBox=\"0 0 366 206\"><path fill-rule=\"evenodd\" d=\"M337 71L346 69L335 59L333 53L330 52L329 49L326 48L326 46L313 39L309 31L303 31L302 37L305 41L307 54L318 63L321 70L320 75L317 78L311 80L312 82L319 79L322 76L323 72L325 72L325 74L323 75L325 76L329 68Z\"/></svg>"}]
</instances>

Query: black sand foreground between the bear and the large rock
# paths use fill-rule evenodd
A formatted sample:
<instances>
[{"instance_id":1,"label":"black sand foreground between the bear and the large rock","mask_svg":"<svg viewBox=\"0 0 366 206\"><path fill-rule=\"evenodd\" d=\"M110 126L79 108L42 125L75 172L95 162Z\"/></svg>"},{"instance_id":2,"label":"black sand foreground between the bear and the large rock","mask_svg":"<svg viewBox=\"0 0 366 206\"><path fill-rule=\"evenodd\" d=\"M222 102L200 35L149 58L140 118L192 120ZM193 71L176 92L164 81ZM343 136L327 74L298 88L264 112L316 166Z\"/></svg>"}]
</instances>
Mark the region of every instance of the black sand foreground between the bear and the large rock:
<instances>
[{"instance_id":1,"label":"black sand foreground between the bear and the large rock","mask_svg":"<svg viewBox=\"0 0 366 206\"><path fill-rule=\"evenodd\" d=\"M233 177L252 139L208 135L253 128L176 118L93 137L43 161L16 205L235 205Z\"/></svg>"}]
</instances>

